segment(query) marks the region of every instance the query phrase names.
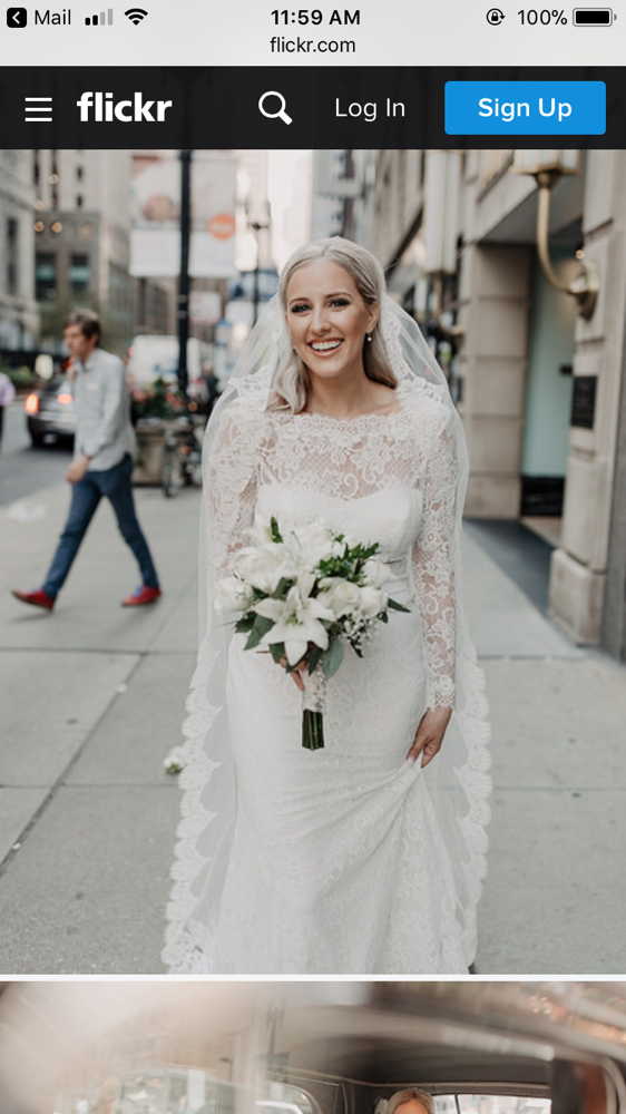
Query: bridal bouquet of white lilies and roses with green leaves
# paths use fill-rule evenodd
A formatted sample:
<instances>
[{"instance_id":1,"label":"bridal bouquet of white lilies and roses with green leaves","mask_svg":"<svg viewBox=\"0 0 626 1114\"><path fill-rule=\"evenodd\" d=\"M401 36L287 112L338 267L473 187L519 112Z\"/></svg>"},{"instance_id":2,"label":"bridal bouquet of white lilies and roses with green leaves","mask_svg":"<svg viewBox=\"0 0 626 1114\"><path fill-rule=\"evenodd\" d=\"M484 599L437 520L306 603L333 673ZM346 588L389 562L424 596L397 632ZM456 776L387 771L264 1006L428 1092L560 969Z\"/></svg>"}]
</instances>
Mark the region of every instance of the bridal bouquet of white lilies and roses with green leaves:
<instances>
[{"instance_id":1,"label":"bridal bouquet of white lilies and roses with green leaves","mask_svg":"<svg viewBox=\"0 0 626 1114\"><path fill-rule=\"evenodd\" d=\"M302 745L314 751L324 745L326 682L344 643L362 657L389 608L409 608L383 590L389 569L375 556L378 543L353 545L322 519L283 534L272 518L248 534L254 545L235 555L235 575L218 582L215 606L241 613L235 631L247 634L246 649L267 646L288 673L304 664Z\"/></svg>"}]
</instances>

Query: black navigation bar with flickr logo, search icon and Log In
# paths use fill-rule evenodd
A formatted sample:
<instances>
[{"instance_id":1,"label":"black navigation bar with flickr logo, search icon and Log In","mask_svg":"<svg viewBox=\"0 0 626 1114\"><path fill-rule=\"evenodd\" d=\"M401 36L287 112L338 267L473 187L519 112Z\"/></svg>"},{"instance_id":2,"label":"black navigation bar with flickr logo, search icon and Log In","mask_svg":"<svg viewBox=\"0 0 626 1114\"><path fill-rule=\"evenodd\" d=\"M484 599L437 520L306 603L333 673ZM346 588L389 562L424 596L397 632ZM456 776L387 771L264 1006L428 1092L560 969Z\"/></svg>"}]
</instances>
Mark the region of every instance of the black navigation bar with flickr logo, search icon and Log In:
<instances>
[{"instance_id":1,"label":"black navigation bar with flickr logo, search icon and Log In","mask_svg":"<svg viewBox=\"0 0 626 1114\"><path fill-rule=\"evenodd\" d=\"M520 143L519 120L524 123L528 109L518 109L531 81L539 82L532 88L540 99L542 135L524 133ZM447 82L457 84L457 95L458 82L468 82L468 104L476 105L477 114L473 135L447 133ZM488 97L480 96L480 82ZM519 89L516 111L500 111L495 82L513 94ZM585 82L596 82L603 108L604 90L597 82L604 82L603 134L574 134L576 115L561 110L558 97L550 133L548 109L560 82L577 82L583 102ZM563 88L565 98L569 87ZM483 102L487 110L479 107ZM516 105L515 97L511 104ZM31 111L37 105L46 111ZM0 140L6 147L519 147L531 146L534 138L547 146L550 134L575 147L618 147L624 141L625 109L626 67L4 66L0 74ZM462 118L469 128L467 115ZM603 128L601 111L598 118ZM490 134L482 131L485 127L491 128Z\"/></svg>"}]
</instances>

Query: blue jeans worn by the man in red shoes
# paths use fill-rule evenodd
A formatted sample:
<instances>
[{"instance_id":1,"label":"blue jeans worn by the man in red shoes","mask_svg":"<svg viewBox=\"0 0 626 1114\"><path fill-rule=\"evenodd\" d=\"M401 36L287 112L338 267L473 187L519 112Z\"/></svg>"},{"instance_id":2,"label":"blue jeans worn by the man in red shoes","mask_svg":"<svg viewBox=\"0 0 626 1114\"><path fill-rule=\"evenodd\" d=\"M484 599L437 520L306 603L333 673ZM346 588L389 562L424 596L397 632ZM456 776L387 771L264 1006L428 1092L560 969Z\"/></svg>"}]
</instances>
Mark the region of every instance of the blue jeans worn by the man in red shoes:
<instances>
[{"instance_id":1,"label":"blue jeans worn by the man in red shoes","mask_svg":"<svg viewBox=\"0 0 626 1114\"><path fill-rule=\"evenodd\" d=\"M101 472L86 472L79 483L72 485L68 519L42 585L43 592L52 599L56 599L66 582L102 496L106 496L115 510L119 532L137 558L141 583L148 588L158 588L158 577L150 550L135 514L131 475L133 460L126 455L114 468L107 468Z\"/></svg>"}]
</instances>

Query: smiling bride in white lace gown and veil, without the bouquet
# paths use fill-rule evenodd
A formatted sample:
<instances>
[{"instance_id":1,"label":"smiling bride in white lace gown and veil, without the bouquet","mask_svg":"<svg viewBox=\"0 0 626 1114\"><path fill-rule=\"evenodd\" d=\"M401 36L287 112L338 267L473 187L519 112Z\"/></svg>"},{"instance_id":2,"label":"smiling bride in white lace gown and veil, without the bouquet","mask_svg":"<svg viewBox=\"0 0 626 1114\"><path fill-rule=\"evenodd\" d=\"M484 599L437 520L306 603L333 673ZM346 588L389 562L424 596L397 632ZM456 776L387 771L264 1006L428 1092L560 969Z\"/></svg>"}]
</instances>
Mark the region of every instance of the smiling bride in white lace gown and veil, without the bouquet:
<instances>
[{"instance_id":1,"label":"smiling bride in white lace gown and veil, without the bouquet","mask_svg":"<svg viewBox=\"0 0 626 1114\"><path fill-rule=\"evenodd\" d=\"M466 483L446 380L379 263L339 237L297 251L207 429L172 974L467 973L489 730L460 603ZM346 649L315 752L299 670L245 651L213 607L272 516L379 543L409 608L363 658Z\"/></svg>"}]
</instances>

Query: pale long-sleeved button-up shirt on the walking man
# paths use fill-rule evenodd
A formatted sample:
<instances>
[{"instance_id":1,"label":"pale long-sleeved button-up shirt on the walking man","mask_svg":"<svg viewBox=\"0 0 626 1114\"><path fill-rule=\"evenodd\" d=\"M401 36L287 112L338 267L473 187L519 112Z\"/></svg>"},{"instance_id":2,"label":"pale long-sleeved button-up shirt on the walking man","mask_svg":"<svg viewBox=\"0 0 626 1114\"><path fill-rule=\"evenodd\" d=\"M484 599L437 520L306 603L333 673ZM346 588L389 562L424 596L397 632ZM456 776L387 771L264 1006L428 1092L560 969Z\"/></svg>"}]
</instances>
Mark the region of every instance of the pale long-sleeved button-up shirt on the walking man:
<instances>
[{"instance_id":1,"label":"pale long-sleeved button-up shirt on the walking man","mask_svg":"<svg viewBox=\"0 0 626 1114\"><path fill-rule=\"evenodd\" d=\"M90 471L104 471L135 451L126 371L118 356L99 348L86 364L77 362L76 368L75 455L84 452L92 458Z\"/></svg>"}]
</instances>

